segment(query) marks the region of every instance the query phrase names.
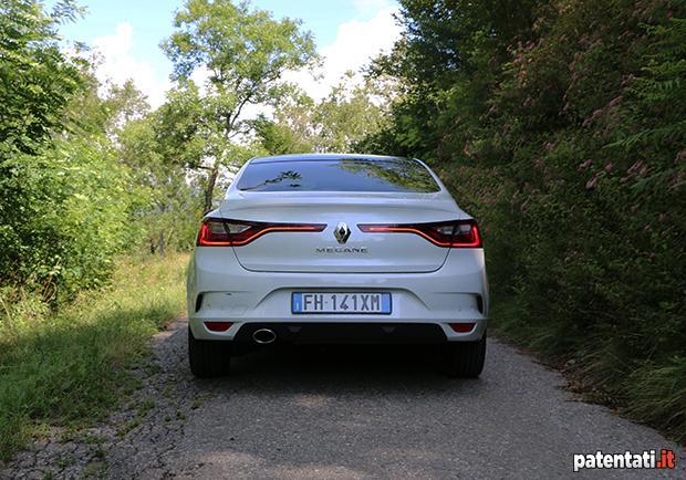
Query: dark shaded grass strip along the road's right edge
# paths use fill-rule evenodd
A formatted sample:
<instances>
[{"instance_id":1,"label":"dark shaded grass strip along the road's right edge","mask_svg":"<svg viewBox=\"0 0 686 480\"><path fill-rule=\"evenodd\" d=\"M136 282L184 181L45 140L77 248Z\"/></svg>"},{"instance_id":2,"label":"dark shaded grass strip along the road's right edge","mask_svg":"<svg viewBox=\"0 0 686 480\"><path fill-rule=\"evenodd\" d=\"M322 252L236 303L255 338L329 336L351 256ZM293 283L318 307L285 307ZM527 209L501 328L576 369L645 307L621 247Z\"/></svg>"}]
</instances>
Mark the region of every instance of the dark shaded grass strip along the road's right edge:
<instances>
[{"instance_id":1,"label":"dark shaded grass strip along the road's right edge","mask_svg":"<svg viewBox=\"0 0 686 480\"><path fill-rule=\"evenodd\" d=\"M686 356L627 358L621 340L573 337L552 319L530 323L513 296L492 301L492 327L502 338L560 369L569 389L686 445Z\"/></svg>"}]
</instances>

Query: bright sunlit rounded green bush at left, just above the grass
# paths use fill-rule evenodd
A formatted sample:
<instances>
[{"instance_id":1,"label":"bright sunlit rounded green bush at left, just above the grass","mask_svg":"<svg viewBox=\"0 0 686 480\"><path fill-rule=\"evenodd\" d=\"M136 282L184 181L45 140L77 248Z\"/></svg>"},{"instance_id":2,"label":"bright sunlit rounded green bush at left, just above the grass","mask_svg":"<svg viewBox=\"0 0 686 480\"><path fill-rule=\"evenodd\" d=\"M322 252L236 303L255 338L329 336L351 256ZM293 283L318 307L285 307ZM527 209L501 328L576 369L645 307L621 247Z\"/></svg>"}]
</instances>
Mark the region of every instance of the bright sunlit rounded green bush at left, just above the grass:
<instances>
[{"instance_id":1,"label":"bright sunlit rounded green bush at left, just above the grass","mask_svg":"<svg viewBox=\"0 0 686 480\"><path fill-rule=\"evenodd\" d=\"M129 178L108 143L59 140L40 156L4 165L13 175L2 189L21 204L3 202L0 274L34 284L51 300L98 285L128 240Z\"/></svg>"}]
</instances>

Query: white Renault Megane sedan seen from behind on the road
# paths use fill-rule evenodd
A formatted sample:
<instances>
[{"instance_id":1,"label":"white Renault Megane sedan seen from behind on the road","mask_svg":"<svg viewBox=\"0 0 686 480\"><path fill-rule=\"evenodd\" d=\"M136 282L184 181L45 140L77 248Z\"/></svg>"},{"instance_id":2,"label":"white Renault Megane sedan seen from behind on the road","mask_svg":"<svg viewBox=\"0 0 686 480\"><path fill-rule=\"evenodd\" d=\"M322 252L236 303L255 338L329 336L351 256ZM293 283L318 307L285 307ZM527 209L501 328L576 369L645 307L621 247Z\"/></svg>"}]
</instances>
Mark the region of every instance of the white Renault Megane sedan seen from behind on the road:
<instances>
[{"instance_id":1,"label":"white Renault Megane sedan seen from behind on the road","mask_svg":"<svg viewBox=\"0 0 686 480\"><path fill-rule=\"evenodd\" d=\"M199 377L279 343L436 344L448 375L484 368L479 229L416 159L249 160L202 220L187 295Z\"/></svg>"}]
</instances>

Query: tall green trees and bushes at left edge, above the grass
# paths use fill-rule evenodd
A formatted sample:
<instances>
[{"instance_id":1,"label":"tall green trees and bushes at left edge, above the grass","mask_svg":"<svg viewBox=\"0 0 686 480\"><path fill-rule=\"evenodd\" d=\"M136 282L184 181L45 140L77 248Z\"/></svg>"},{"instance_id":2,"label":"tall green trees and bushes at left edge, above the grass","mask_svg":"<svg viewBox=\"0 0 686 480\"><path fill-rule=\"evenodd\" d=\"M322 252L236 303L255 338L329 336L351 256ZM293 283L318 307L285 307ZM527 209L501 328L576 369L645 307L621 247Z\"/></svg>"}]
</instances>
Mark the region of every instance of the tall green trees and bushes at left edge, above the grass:
<instances>
[{"instance_id":1,"label":"tall green trees and bushes at left edge, above the grass","mask_svg":"<svg viewBox=\"0 0 686 480\"><path fill-rule=\"evenodd\" d=\"M56 24L76 11L56 12L10 1L0 15L0 279L51 301L106 281L138 195L105 135L117 113L87 63L58 48Z\"/></svg>"}]
</instances>

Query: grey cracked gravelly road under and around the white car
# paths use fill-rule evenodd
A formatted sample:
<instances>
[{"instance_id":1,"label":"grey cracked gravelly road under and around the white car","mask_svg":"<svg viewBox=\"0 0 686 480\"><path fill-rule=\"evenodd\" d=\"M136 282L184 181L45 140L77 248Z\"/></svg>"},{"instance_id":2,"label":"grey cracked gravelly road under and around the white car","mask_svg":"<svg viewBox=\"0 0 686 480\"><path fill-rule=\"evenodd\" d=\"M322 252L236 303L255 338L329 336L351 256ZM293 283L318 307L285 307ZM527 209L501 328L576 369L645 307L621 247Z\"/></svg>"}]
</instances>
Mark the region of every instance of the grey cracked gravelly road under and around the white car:
<instances>
[{"instance_id":1,"label":"grey cracked gravelly road under and around the white car","mask_svg":"<svg viewBox=\"0 0 686 480\"><path fill-rule=\"evenodd\" d=\"M574 401L559 374L495 340L477 380L398 348L261 352L235 366L194 379L179 321L156 336L123 410L55 430L0 477L686 478L683 448ZM676 470L572 471L573 453L661 448L677 451Z\"/></svg>"}]
</instances>

